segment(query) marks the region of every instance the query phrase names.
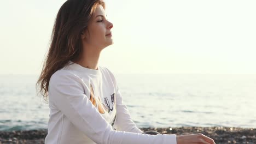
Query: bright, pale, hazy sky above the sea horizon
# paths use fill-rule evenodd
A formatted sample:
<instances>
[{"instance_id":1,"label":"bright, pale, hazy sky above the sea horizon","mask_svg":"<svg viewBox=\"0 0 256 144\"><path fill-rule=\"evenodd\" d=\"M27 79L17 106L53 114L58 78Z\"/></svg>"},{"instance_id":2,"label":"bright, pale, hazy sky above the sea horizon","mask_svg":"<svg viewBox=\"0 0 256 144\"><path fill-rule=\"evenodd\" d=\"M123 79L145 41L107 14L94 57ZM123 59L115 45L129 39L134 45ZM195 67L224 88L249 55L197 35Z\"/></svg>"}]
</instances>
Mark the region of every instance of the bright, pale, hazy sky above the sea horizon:
<instances>
[{"instance_id":1,"label":"bright, pale, hazy sky above the sea horizon","mask_svg":"<svg viewBox=\"0 0 256 144\"><path fill-rule=\"evenodd\" d=\"M1 2L0 74L40 74L64 2ZM99 65L120 74L256 74L255 7L254 0L106 0L114 44Z\"/></svg>"}]
</instances>

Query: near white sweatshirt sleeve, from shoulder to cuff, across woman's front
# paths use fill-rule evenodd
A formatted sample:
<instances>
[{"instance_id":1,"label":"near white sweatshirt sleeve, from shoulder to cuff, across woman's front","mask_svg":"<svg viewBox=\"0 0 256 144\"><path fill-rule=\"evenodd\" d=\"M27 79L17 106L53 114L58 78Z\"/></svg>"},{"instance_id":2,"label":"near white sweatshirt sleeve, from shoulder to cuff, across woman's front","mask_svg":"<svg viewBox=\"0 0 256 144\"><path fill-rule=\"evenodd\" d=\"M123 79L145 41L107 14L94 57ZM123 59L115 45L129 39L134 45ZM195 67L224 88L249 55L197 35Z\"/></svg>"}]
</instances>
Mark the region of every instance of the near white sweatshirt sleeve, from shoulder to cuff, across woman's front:
<instances>
[{"instance_id":1,"label":"near white sweatshirt sleeve, from shoulder to cuff, across woman's front","mask_svg":"<svg viewBox=\"0 0 256 144\"><path fill-rule=\"evenodd\" d=\"M73 74L58 72L51 76L49 82L49 100L92 141L98 144L177 144L176 135L148 135L113 130L84 94L83 81Z\"/></svg>"}]
</instances>

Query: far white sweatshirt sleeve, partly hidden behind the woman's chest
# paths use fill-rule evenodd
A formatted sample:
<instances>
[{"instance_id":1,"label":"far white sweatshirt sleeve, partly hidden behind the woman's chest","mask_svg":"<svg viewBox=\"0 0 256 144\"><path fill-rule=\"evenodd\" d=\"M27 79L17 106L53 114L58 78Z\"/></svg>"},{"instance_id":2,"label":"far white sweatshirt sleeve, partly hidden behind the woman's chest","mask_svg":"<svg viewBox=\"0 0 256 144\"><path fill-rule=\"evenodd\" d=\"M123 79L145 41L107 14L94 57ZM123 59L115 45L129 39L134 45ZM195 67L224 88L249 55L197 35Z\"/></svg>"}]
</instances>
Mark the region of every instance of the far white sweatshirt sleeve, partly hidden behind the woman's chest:
<instances>
[{"instance_id":1,"label":"far white sweatshirt sleeve, partly hidden behind the woman's chest","mask_svg":"<svg viewBox=\"0 0 256 144\"><path fill-rule=\"evenodd\" d=\"M117 98L117 120L115 127L121 131L129 131L131 133L143 133L144 131L137 128L133 122L127 106L124 104L119 89L116 94Z\"/></svg>"}]
</instances>

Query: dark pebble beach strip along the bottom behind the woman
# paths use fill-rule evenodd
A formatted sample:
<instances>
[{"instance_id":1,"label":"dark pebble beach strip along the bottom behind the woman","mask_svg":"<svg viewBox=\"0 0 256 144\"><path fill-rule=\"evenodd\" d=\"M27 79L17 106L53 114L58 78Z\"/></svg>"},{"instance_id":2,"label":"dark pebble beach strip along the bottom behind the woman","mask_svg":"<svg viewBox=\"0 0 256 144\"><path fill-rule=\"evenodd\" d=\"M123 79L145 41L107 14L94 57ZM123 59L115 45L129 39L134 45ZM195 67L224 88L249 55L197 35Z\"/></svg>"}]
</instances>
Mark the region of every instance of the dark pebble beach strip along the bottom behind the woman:
<instances>
[{"instance_id":1,"label":"dark pebble beach strip along the bottom behind the woman","mask_svg":"<svg viewBox=\"0 0 256 144\"><path fill-rule=\"evenodd\" d=\"M140 128L142 131L155 130L160 134L187 135L202 133L211 137L216 144L256 143L256 128L232 127L181 127L181 128ZM46 129L28 131L0 131L0 143L44 143Z\"/></svg>"}]
</instances>

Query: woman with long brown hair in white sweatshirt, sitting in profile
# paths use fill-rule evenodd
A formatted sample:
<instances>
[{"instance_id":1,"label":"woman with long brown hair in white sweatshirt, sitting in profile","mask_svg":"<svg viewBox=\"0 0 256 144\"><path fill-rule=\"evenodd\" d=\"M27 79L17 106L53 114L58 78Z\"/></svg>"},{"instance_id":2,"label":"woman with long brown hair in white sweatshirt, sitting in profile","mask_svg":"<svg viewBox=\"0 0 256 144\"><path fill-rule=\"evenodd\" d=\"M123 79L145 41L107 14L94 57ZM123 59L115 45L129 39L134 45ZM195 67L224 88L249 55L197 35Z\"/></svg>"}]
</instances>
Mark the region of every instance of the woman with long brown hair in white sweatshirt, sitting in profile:
<instances>
[{"instance_id":1,"label":"woman with long brown hair in white sweatshirt, sitting in profile","mask_svg":"<svg viewBox=\"0 0 256 144\"><path fill-rule=\"evenodd\" d=\"M161 135L136 127L114 75L98 66L101 51L113 43L104 7L100 0L68 0L57 14L37 82L49 98L45 143L214 143L202 134Z\"/></svg>"}]
</instances>

